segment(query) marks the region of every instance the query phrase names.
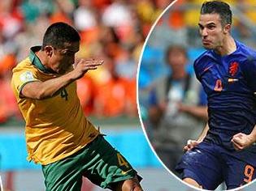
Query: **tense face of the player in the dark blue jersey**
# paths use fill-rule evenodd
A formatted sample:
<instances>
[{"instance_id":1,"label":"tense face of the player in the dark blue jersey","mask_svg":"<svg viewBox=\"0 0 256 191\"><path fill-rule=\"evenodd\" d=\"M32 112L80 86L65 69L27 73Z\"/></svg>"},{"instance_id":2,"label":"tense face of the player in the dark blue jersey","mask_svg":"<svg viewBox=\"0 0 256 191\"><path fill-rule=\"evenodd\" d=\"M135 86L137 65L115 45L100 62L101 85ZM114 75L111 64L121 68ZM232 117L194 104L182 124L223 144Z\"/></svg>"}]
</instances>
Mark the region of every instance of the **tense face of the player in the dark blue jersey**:
<instances>
[{"instance_id":1,"label":"tense face of the player in the dark blue jersey","mask_svg":"<svg viewBox=\"0 0 256 191\"><path fill-rule=\"evenodd\" d=\"M218 49L223 45L225 31L221 25L219 14L200 15L199 33L205 49Z\"/></svg>"}]
</instances>

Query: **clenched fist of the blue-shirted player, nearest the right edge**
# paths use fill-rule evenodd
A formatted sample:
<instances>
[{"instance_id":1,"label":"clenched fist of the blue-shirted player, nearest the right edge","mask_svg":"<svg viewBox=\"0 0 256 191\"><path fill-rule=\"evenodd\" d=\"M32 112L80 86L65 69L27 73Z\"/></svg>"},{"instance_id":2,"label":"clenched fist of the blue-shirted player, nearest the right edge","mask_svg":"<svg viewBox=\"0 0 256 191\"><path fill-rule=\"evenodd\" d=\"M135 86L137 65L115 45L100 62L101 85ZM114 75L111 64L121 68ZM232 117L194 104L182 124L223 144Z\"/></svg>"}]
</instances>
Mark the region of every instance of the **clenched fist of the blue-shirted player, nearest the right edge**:
<instances>
[{"instance_id":1,"label":"clenched fist of the blue-shirted player, nearest the right edge","mask_svg":"<svg viewBox=\"0 0 256 191\"><path fill-rule=\"evenodd\" d=\"M239 133L232 137L231 142L237 151L241 151L247 146L250 146L254 142L254 139L249 134Z\"/></svg>"}]
</instances>

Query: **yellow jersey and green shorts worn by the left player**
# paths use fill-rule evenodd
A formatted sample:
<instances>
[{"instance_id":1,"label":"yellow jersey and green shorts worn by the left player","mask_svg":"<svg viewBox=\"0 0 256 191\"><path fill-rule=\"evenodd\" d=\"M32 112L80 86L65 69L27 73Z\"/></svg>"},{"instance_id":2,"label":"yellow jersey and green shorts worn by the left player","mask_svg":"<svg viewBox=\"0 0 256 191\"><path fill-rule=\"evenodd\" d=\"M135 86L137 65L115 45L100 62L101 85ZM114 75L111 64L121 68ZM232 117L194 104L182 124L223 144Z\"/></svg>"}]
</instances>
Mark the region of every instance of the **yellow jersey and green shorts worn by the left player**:
<instances>
[{"instance_id":1,"label":"yellow jersey and green shorts worn by the left player","mask_svg":"<svg viewBox=\"0 0 256 191\"><path fill-rule=\"evenodd\" d=\"M124 156L85 117L76 81L46 99L21 95L27 83L60 76L42 65L36 55L40 49L31 48L29 57L13 69L11 86L26 122L28 160L41 163L46 190L80 190L82 176L111 189L113 183L137 176Z\"/></svg>"}]
</instances>

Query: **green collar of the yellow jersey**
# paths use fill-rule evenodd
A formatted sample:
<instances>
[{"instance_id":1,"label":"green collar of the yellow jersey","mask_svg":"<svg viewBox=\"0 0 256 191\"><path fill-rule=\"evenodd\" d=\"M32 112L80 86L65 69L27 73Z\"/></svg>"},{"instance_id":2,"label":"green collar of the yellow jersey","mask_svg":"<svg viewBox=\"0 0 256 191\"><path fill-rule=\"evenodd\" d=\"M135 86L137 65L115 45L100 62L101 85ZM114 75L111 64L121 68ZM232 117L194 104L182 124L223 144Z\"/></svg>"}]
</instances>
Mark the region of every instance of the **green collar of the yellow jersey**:
<instances>
[{"instance_id":1,"label":"green collar of the yellow jersey","mask_svg":"<svg viewBox=\"0 0 256 191\"><path fill-rule=\"evenodd\" d=\"M30 48L30 53L29 53L30 62L32 62L33 66L36 66L37 69L41 70L42 72L46 74L52 74L53 72L51 70L48 70L45 66L43 66L41 61L39 60L39 57L37 57L36 55L36 52L38 52L40 49L41 49L41 46L33 46Z\"/></svg>"}]
</instances>

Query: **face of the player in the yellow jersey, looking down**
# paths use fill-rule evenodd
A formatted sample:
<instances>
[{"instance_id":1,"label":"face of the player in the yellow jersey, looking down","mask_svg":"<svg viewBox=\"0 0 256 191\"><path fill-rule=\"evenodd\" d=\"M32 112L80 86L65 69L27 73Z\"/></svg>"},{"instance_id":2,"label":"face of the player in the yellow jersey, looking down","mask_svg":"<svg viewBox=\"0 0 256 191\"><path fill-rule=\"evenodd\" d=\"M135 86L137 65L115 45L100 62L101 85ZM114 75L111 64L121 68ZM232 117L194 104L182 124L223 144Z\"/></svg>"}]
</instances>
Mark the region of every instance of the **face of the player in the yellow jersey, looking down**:
<instances>
[{"instance_id":1,"label":"face of the player in the yellow jersey, looking down","mask_svg":"<svg viewBox=\"0 0 256 191\"><path fill-rule=\"evenodd\" d=\"M51 70L58 74L65 74L68 70L71 70L78 50L79 42L65 44L62 49L54 48L50 61Z\"/></svg>"}]
</instances>

